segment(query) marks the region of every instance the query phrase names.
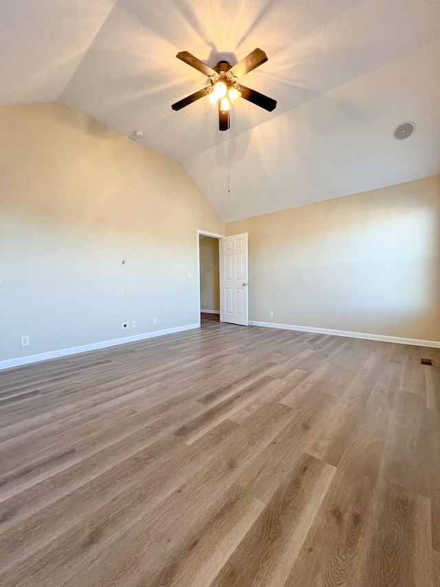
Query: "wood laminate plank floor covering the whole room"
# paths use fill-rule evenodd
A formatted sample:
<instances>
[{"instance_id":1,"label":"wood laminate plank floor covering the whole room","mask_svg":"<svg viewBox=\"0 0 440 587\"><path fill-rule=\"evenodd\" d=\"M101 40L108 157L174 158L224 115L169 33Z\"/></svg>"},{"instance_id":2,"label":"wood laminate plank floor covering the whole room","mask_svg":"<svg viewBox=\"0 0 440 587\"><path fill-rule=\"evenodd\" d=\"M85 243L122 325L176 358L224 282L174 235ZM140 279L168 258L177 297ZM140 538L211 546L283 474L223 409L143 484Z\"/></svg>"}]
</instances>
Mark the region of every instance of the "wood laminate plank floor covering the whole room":
<instances>
[{"instance_id":1,"label":"wood laminate plank floor covering the whole room","mask_svg":"<svg viewBox=\"0 0 440 587\"><path fill-rule=\"evenodd\" d=\"M2 372L0 584L440 587L439 372L214 321Z\"/></svg>"}]
</instances>

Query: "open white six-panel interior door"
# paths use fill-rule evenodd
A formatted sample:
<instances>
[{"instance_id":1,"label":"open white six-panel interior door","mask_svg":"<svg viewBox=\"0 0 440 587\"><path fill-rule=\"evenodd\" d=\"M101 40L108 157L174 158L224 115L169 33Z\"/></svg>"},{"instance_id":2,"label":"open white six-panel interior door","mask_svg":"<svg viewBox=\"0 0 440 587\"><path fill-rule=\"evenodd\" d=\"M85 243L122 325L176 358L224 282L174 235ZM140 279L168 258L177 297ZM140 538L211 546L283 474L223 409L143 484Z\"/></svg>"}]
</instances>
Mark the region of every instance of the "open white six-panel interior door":
<instances>
[{"instance_id":1,"label":"open white six-panel interior door","mask_svg":"<svg viewBox=\"0 0 440 587\"><path fill-rule=\"evenodd\" d=\"M248 233L220 239L220 321L248 325Z\"/></svg>"}]
</instances>

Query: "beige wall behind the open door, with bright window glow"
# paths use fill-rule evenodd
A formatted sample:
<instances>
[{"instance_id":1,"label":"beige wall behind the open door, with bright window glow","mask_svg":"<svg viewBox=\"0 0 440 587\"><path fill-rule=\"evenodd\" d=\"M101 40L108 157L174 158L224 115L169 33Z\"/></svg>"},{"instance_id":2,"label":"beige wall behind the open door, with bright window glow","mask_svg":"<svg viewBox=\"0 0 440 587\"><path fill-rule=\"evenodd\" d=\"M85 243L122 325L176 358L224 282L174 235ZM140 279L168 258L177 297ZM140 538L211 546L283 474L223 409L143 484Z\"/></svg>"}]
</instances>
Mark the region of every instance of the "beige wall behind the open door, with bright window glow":
<instances>
[{"instance_id":1,"label":"beige wall behind the open door, with bright window glow","mask_svg":"<svg viewBox=\"0 0 440 587\"><path fill-rule=\"evenodd\" d=\"M249 233L250 320L440 341L440 175L225 230Z\"/></svg>"}]
</instances>

